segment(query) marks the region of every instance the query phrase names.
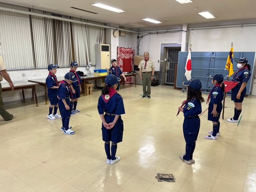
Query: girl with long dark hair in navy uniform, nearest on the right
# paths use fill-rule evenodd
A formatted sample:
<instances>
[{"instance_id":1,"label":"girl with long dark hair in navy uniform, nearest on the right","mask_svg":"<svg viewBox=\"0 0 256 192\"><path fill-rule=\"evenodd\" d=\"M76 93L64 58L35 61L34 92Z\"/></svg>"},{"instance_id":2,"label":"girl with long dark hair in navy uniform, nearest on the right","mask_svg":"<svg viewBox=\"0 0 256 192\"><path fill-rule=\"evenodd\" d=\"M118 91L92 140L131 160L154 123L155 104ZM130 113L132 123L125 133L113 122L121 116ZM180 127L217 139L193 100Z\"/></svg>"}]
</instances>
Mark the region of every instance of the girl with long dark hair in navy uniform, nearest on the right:
<instances>
[{"instance_id":1,"label":"girl with long dark hair in navy uniform, nearest on the right","mask_svg":"<svg viewBox=\"0 0 256 192\"><path fill-rule=\"evenodd\" d=\"M178 110L184 114L183 135L186 141L186 153L179 157L183 162L191 165L195 163L193 153L200 129L198 115L202 113L201 102L204 102L204 98L200 90L202 83L199 79L190 79L187 82L183 82L183 85L188 86L187 102L184 108L179 107Z\"/></svg>"}]
</instances>

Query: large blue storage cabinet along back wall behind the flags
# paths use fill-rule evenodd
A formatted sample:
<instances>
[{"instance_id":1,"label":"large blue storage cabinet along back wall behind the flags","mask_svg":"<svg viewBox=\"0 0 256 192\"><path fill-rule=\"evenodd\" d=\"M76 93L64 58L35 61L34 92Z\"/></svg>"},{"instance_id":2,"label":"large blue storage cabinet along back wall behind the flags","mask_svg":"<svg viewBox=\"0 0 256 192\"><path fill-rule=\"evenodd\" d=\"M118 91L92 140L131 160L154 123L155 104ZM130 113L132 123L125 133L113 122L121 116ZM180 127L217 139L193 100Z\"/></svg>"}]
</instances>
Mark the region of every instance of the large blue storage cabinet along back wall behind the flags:
<instances>
[{"instance_id":1,"label":"large blue storage cabinet along back wall behind the flags","mask_svg":"<svg viewBox=\"0 0 256 192\"><path fill-rule=\"evenodd\" d=\"M198 78L202 82L202 91L208 92L212 89L212 78L210 75L221 73L224 77L224 81L227 81L228 70L226 70L226 62L229 52L191 52L191 77ZM182 82L187 81L185 77L185 66L187 62L188 52L179 52L178 70L177 70L177 83L178 88L183 88ZM253 73L253 64L255 58L255 52L234 52L234 73L237 70L237 62L235 60L246 57L251 65L251 74ZM233 75L231 76L233 77ZM251 83L253 77L246 85L246 94L251 93ZM229 81L231 78L229 77Z\"/></svg>"}]
</instances>

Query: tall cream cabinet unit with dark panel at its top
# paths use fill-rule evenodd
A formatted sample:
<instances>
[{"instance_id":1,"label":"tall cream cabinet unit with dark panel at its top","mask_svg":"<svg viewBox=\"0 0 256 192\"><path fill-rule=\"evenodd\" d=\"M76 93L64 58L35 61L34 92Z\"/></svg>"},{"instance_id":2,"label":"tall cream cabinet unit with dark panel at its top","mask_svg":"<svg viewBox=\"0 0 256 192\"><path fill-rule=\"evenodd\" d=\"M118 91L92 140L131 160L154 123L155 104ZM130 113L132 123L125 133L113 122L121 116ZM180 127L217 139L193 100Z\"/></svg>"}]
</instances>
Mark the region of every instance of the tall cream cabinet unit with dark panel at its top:
<instances>
[{"instance_id":1,"label":"tall cream cabinet unit with dark panel at its top","mask_svg":"<svg viewBox=\"0 0 256 192\"><path fill-rule=\"evenodd\" d=\"M95 44L96 69L109 69L110 45Z\"/></svg>"}]
</instances>

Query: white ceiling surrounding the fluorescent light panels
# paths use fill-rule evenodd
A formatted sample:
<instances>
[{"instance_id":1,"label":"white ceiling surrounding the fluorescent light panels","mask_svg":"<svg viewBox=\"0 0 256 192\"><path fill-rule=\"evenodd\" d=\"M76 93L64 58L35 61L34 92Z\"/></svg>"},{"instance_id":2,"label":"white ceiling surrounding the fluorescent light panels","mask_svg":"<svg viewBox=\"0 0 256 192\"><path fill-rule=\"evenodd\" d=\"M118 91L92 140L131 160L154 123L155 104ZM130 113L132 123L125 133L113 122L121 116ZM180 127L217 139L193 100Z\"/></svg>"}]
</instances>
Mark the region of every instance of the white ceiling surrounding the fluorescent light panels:
<instances>
[{"instance_id":1,"label":"white ceiling surrounding the fluorescent light panels","mask_svg":"<svg viewBox=\"0 0 256 192\"><path fill-rule=\"evenodd\" d=\"M256 0L192 0L193 3L180 4L175 0L1 0L3 3L30 7L54 13L70 15L103 23L114 23L130 29L172 28L187 23L190 26L199 23L256 23ZM102 3L122 9L124 13L115 13L94 7L91 4ZM85 12L78 9L94 12ZM215 19L205 19L198 12L209 11ZM150 18L161 21L154 24L143 21ZM230 24L230 25L231 25Z\"/></svg>"}]
</instances>

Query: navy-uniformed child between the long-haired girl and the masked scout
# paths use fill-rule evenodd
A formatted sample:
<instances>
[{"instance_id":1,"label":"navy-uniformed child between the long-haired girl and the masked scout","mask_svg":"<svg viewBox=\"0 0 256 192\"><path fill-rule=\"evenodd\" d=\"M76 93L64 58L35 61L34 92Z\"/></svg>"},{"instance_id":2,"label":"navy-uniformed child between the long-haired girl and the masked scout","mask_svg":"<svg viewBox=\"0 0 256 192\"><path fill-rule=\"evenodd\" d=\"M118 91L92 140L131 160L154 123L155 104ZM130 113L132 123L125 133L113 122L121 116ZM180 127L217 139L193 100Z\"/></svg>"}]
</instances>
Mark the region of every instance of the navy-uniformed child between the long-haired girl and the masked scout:
<instances>
[{"instance_id":1,"label":"navy-uniformed child between the long-haired girl and the masked scout","mask_svg":"<svg viewBox=\"0 0 256 192\"><path fill-rule=\"evenodd\" d=\"M225 85L223 83L223 75L216 74L213 76L212 84L214 87L209 93L209 97L206 101L206 104L209 102L208 108L208 120L212 121L213 131L208 133L211 135L206 135L205 139L218 139L217 136L220 136L220 113L222 111L222 100L224 98Z\"/></svg>"}]
</instances>

